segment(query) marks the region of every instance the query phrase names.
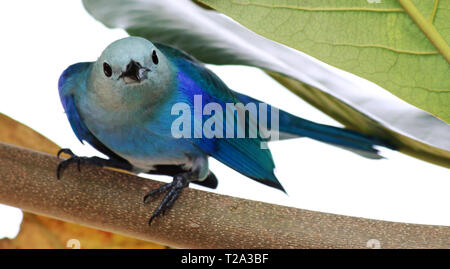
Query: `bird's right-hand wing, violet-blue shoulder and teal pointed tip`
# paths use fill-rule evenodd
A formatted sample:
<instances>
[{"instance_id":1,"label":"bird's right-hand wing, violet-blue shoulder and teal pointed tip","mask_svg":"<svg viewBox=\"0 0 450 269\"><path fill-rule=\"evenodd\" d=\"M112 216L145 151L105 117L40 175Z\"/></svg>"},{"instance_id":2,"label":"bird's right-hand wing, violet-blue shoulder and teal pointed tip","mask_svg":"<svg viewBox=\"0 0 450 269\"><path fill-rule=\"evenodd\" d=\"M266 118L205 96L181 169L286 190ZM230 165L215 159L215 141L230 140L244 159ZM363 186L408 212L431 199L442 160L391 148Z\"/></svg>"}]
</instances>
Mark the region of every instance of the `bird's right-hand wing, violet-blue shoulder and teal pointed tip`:
<instances>
[{"instance_id":1,"label":"bird's right-hand wing, violet-blue shoulder and teal pointed tip","mask_svg":"<svg viewBox=\"0 0 450 269\"><path fill-rule=\"evenodd\" d=\"M235 94L214 73L190 56L171 47L155 44L177 66L178 90L193 104L194 95L202 96L202 104L238 103ZM225 110L224 110L225 111ZM205 118L204 118L205 120ZM248 120L248 119L247 119ZM226 128L223 126L223 128ZM234 170L263 184L284 191L273 173L275 168L269 149L256 138L193 138L192 143L206 154Z\"/></svg>"}]
</instances>

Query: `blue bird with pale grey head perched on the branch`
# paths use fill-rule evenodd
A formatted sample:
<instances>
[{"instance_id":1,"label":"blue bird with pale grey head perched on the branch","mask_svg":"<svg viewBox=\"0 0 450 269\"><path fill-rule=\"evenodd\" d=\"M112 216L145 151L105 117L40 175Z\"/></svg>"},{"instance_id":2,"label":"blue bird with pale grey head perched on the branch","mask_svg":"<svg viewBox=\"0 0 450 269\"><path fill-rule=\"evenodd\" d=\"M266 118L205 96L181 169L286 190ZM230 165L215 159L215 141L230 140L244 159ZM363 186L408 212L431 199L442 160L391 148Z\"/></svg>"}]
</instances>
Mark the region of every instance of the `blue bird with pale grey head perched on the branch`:
<instances>
[{"instance_id":1,"label":"blue bird with pale grey head perched on the branch","mask_svg":"<svg viewBox=\"0 0 450 269\"><path fill-rule=\"evenodd\" d=\"M95 62L70 65L58 90L76 137L107 158L63 148L58 157L70 158L59 163L57 178L74 163L78 169L91 164L172 177L144 196L146 202L166 193L150 225L190 183L217 187L210 157L285 192L274 173L270 141L308 137L371 159L383 158L378 146L394 149L381 138L315 123L236 92L195 57L142 37L116 40Z\"/></svg>"}]
</instances>

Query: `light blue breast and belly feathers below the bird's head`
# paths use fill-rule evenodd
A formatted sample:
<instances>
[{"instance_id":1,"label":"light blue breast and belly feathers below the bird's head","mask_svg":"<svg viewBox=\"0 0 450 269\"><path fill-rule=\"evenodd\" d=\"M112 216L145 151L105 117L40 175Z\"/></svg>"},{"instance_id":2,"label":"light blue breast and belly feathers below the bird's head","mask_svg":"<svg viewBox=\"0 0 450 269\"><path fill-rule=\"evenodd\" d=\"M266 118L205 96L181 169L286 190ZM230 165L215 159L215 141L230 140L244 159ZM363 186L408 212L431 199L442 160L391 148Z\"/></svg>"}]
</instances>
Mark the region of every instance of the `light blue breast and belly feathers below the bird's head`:
<instances>
[{"instance_id":1,"label":"light blue breast and belly feathers below the bird's head","mask_svg":"<svg viewBox=\"0 0 450 269\"><path fill-rule=\"evenodd\" d=\"M136 167L188 165L193 156L203 155L189 140L172 135L172 121L176 116L171 115L169 103L145 115L82 107L81 114L88 129L105 146Z\"/></svg>"}]
</instances>

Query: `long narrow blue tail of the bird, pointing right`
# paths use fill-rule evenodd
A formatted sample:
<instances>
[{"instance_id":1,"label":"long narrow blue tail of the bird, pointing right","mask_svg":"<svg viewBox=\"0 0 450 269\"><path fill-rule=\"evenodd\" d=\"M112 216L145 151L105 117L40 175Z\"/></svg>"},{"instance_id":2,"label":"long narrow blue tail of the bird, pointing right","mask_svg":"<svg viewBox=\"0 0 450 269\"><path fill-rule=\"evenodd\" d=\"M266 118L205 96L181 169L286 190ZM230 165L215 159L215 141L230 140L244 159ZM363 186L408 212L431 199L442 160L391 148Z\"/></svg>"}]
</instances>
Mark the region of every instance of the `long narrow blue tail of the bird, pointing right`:
<instances>
[{"instance_id":1,"label":"long narrow blue tail of the bird, pointing right","mask_svg":"<svg viewBox=\"0 0 450 269\"><path fill-rule=\"evenodd\" d=\"M256 104L261 103L261 101L240 93L236 93L236 96L244 104L250 102L254 102ZM269 114L272 111L270 105L268 105L267 111L269 111ZM267 115L267 119L270 118L270 115ZM278 119L279 140L295 137L309 137L314 140L350 150L370 159L383 158L379 155L379 151L375 148L375 146L395 149L392 145L380 138L368 136L345 128L315 123L294 116L280 109L278 110Z\"/></svg>"}]
</instances>

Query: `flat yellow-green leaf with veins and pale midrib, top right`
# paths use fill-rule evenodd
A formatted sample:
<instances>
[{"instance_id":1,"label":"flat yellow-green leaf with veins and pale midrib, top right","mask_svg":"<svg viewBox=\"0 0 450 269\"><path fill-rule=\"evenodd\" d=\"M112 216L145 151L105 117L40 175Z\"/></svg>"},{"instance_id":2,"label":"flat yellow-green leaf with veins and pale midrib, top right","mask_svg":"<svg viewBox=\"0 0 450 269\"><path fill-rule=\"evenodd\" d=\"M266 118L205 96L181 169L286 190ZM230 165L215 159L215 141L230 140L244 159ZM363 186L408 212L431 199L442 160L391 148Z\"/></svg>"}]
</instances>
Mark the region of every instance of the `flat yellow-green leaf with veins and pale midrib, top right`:
<instances>
[{"instance_id":1,"label":"flat yellow-green leaf with veins and pale midrib, top right","mask_svg":"<svg viewBox=\"0 0 450 269\"><path fill-rule=\"evenodd\" d=\"M450 122L450 1L199 2Z\"/></svg>"}]
</instances>

